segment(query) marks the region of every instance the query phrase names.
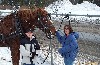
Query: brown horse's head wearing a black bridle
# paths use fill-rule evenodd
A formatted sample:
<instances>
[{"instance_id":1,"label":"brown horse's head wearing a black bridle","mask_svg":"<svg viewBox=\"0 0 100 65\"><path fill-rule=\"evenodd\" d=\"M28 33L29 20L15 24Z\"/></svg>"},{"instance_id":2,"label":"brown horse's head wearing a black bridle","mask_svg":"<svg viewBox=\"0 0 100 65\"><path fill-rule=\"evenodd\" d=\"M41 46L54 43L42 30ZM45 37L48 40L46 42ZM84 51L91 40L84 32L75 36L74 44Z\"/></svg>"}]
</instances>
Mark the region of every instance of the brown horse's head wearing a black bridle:
<instances>
[{"instance_id":1,"label":"brown horse's head wearing a black bridle","mask_svg":"<svg viewBox=\"0 0 100 65\"><path fill-rule=\"evenodd\" d=\"M42 8L38 8L33 12L34 18L37 22L36 26L40 28L43 32L46 33L47 37L52 34L55 34L55 27L53 26L53 22L50 20L50 16L48 12Z\"/></svg>"}]
</instances>

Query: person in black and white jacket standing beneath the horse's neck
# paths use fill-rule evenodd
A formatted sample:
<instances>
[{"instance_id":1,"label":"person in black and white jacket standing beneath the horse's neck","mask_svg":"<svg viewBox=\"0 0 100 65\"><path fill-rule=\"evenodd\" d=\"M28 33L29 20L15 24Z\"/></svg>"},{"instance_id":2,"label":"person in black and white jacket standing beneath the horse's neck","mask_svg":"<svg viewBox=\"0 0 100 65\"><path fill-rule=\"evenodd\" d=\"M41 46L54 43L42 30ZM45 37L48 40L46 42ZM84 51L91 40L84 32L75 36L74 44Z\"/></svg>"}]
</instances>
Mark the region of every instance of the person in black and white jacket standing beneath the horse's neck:
<instances>
[{"instance_id":1,"label":"person in black and white jacket standing beneath the horse's neck","mask_svg":"<svg viewBox=\"0 0 100 65\"><path fill-rule=\"evenodd\" d=\"M22 64L33 64L32 59L34 59L37 50L40 50L40 46L36 37L33 34L31 29L27 29L24 31L25 35L20 40L20 53L22 56Z\"/></svg>"}]
</instances>

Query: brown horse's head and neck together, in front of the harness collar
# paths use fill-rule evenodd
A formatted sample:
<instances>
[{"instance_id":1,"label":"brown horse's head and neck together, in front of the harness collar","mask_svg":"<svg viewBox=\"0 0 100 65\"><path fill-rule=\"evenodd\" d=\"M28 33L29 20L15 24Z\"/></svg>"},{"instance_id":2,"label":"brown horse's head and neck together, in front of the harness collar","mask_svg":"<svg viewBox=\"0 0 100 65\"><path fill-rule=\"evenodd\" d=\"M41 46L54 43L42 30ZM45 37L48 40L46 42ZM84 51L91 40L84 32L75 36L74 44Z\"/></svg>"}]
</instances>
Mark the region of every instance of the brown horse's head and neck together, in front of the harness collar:
<instances>
[{"instance_id":1,"label":"brown horse's head and neck together, in front of the harness collar","mask_svg":"<svg viewBox=\"0 0 100 65\"><path fill-rule=\"evenodd\" d=\"M47 37L49 37L50 34L55 34L55 27L53 26L47 11L42 8L37 8L34 11L19 11L19 17L21 18L23 29L34 29L36 27L45 32Z\"/></svg>"}]
</instances>

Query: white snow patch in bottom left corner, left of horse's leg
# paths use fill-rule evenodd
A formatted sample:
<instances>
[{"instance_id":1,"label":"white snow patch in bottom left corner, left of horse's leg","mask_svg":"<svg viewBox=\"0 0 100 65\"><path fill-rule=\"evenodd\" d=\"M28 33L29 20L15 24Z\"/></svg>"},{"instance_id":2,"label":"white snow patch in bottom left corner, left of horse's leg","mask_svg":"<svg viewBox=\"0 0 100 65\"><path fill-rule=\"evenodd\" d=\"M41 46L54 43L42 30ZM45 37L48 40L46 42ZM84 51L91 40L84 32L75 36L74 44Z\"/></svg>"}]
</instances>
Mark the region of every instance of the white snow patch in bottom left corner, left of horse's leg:
<instances>
[{"instance_id":1,"label":"white snow patch in bottom left corner, left of horse's leg","mask_svg":"<svg viewBox=\"0 0 100 65\"><path fill-rule=\"evenodd\" d=\"M0 65L12 65L10 48L0 47Z\"/></svg>"}]
</instances>

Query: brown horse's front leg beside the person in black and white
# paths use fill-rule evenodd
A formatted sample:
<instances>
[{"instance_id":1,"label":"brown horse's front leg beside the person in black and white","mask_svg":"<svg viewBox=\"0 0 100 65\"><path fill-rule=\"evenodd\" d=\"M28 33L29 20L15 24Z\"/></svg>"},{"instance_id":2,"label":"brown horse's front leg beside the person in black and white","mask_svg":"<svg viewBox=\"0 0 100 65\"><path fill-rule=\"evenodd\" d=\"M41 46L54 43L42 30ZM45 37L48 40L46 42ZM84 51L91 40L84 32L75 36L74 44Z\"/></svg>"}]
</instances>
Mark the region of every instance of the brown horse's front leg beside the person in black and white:
<instances>
[{"instance_id":1,"label":"brown horse's front leg beside the person in black and white","mask_svg":"<svg viewBox=\"0 0 100 65\"><path fill-rule=\"evenodd\" d=\"M16 37L11 42L11 55L13 65L19 65L20 51L19 51L19 39Z\"/></svg>"}]
</instances>

